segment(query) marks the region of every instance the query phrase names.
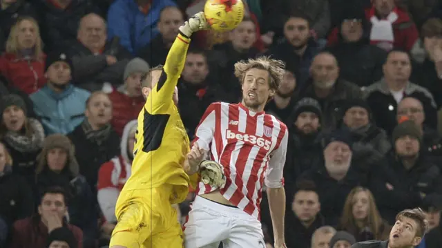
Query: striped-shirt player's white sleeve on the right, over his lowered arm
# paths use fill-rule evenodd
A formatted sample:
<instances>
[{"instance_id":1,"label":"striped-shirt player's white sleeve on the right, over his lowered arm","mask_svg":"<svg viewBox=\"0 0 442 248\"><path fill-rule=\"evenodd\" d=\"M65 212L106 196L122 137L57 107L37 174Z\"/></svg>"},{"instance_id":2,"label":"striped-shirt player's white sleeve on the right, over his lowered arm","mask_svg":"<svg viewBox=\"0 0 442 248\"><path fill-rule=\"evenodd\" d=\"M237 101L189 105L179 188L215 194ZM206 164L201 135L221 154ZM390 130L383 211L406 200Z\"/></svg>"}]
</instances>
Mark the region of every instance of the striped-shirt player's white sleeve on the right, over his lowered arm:
<instances>
[{"instance_id":1,"label":"striped-shirt player's white sleeve on the right, over his lowered arm","mask_svg":"<svg viewBox=\"0 0 442 248\"><path fill-rule=\"evenodd\" d=\"M269 166L265 174L265 185L268 188L280 188L284 186L284 171L285 157L287 154L287 141L289 133L287 128L284 129L284 136L278 148L273 151L273 155L269 161Z\"/></svg>"}]
</instances>

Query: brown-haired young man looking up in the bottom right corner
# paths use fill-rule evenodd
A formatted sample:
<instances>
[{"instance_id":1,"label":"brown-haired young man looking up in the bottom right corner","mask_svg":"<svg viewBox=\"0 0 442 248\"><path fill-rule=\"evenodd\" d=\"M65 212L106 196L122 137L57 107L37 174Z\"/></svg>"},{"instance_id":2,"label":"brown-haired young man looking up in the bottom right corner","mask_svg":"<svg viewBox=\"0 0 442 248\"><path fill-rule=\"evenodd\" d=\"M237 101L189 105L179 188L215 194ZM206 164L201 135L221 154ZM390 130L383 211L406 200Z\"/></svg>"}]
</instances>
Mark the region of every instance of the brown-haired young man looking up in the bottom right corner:
<instances>
[{"instance_id":1,"label":"brown-haired young man looking up in the bottom right corner","mask_svg":"<svg viewBox=\"0 0 442 248\"><path fill-rule=\"evenodd\" d=\"M352 245L352 248L416 247L421 243L427 231L427 225L425 214L421 209L405 209L396 216L396 222L388 240L358 242Z\"/></svg>"}]
</instances>

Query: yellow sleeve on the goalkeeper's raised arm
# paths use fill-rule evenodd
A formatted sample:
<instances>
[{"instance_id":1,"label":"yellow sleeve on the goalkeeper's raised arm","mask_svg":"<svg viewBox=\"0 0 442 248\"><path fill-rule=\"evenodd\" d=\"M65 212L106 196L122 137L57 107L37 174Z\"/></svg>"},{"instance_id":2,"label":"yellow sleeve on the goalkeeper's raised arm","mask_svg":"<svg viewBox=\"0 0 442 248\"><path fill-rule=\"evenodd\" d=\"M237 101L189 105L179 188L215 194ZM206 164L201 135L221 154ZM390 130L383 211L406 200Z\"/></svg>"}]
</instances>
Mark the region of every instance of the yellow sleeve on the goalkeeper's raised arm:
<instances>
[{"instance_id":1,"label":"yellow sleeve on the goalkeeper's raised arm","mask_svg":"<svg viewBox=\"0 0 442 248\"><path fill-rule=\"evenodd\" d=\"M173 41L160 79L153 86L144 105L146 111L151 115L164 113L170 104L173 104L172 96L184 69L189 43L190 39L181 33Z\"/></svg>"}]
</instances>

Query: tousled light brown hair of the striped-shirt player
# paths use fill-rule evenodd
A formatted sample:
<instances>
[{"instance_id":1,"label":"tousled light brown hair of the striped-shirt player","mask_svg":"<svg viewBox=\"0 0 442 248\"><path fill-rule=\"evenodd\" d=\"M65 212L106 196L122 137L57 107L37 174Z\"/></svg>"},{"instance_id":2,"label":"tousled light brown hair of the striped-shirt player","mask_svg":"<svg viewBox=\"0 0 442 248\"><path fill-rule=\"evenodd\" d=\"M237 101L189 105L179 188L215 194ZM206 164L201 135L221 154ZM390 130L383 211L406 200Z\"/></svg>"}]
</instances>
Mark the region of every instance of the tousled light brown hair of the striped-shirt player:
<instances>
[{"instance_id":1,"label":"tousled light brown hair of the striped-shirt player","mask_svg":"<svg viewBox=\"0 0 442 248\"><path fill-rule=\"evenodd\" d=\"M269 73L270 88L277 90L280 86L285 74L285 63L281 60L271 59L267 56L258 57L256 59L241 60L235 64L235 76L244 82L247 71L256 68L267 70Z\"/></svg>"}]
</instances>

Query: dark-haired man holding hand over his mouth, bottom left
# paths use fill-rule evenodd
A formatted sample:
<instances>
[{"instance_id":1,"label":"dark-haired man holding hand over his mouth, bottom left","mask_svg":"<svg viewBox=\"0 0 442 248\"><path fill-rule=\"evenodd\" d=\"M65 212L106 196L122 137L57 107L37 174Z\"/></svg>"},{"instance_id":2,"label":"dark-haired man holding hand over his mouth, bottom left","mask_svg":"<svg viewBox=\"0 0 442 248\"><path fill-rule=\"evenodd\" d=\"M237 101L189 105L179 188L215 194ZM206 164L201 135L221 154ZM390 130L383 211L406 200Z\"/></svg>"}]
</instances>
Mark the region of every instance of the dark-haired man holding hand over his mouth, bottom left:
<instances>
[{"instance_id":1,"label":"dark-haired man holding hand over his mouth, bottom left","mask_svg":"<svg viewBox=\"0 0 442 248\"><path fill-rule=\"evenodd\" d=\"M12 229L10 248L46 248L49 233L60 227L67 227L77 240L77 248L83 248L83 232L66 220L67 196L63 189L52 187L44 191L38 213L30 218L17 220Z\"/></svg>"}]
</instances>

